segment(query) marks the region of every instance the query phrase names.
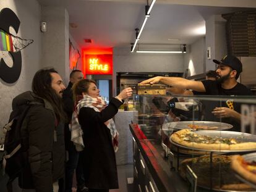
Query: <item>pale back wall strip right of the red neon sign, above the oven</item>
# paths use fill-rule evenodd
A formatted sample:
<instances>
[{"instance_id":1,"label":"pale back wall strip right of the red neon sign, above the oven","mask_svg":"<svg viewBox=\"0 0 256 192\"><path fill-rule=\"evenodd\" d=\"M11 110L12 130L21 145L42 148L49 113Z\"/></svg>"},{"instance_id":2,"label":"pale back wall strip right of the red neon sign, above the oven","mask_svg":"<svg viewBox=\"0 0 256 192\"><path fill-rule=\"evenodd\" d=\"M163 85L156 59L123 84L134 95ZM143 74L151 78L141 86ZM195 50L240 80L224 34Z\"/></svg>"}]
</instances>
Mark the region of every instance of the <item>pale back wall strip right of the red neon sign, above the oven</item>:
<instances>
[{"instance_id":1,"label":"pale back wall strip right of the red neon sign, above the oven","mask_svg":"<svg viewBox=\"0 0 256 192\"><path fill-rule=\"evenodd\" d=\"M131 53L129 48L113 50L113 88L116 94L117 72L180 72L184 71L183 54Z\"/></svg>"}]
</instances>

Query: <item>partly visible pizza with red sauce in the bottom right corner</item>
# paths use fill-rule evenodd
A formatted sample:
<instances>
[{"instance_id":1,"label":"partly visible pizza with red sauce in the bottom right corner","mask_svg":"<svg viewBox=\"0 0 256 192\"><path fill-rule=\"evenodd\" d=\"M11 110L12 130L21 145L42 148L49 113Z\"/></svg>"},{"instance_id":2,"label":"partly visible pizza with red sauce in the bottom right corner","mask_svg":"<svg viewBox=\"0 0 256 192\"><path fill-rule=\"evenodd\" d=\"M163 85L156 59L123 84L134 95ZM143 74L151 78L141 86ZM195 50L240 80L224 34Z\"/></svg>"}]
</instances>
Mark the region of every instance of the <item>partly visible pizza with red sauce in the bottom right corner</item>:
<instances>
[{"instance_id":1,"label":"partly visible pizza with red sauce in the bottom right corner","mask_svg":"<svg viewBox=\"0 0 256 192\"><path fill-rule=\"evenodd\" d=\"M256 185L256 162L245 161L242 156L234 156L231 162L232 169L243 178Z\"/></svg>"}]
</instances>

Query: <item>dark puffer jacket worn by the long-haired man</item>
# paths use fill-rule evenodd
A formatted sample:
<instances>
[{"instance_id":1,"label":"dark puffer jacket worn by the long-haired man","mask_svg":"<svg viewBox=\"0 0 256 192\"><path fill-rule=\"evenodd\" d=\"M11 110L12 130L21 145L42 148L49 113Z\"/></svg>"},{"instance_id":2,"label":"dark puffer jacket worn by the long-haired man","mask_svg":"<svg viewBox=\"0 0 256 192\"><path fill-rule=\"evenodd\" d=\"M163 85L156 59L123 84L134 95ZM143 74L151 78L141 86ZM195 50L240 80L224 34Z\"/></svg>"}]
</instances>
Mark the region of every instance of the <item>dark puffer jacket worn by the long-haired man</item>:
<instances>
[{"instance_id":1,"label":"dark puffer jacket worn by the long-haired man","mask_svg":"<svg viewBox=\"0 0 256 192\"><path fill-rule=\"evenodd\" d=\"M28 161L24 175L19 178L21 188L34 186L36 192L53 191L53 183L64 177L64 125L56 126L51 104L27 91L12 101L12 109L27 102L39 102L30 107L28 120Z\"/></svg>"}]
</instances>

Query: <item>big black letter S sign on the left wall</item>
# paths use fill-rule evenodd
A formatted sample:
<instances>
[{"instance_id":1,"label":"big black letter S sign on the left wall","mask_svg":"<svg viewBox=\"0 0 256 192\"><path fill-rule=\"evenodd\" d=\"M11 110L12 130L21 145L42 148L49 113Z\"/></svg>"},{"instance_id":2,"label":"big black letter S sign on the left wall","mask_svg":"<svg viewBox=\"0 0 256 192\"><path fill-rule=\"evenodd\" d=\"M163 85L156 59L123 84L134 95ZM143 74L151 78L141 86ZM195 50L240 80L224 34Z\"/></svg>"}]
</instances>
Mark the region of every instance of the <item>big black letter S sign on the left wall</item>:
<instances>
[{"instance_id":1,"label":"big black letter S sign on the left wall","mask_svg":"<svg viewBox=\"0 0 256 192\"><path fill-rule=\"evenodd\" d=\"M10 33L9 27L13 27L15 32L18 33L20 27L20 20L17 15L9 8L4 8L0 12L0 28L7 33ZM13 65L9 67L4 62L4 59L0 60L0 78L6 83L14 83L20 77L22 69L22 56L20 51L9 52L12 56Z\"/></svg>"}]
</instances>

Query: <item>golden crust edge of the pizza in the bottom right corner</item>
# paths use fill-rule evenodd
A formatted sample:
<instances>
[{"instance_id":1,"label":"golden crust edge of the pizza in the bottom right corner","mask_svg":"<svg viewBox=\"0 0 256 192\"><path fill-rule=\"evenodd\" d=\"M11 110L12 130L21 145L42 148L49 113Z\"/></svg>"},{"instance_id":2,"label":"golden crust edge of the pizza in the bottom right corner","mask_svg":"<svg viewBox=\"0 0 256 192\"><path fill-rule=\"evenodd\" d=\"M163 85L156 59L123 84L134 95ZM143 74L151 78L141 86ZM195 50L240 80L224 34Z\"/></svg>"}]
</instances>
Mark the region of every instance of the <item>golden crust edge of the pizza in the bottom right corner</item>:
<instances>
[{"instance_id":1,"label":"golden crust edge of the pizza in the bottom right corner","mask_svg":"<svg viewBox=\"0 0 256 192\"><path fill-rule=\"evenodd\" d=\"M249 170L245 169L242 166L242 161L243 161L242 156L239 156L239 155L233 156L232 161L231 161L232 169L235 172L239 173L239 175L241 175L243 178L245 178L249 182L256 184L256 175L254 173L250 172Z\"/></svg>"}]
</instances>

